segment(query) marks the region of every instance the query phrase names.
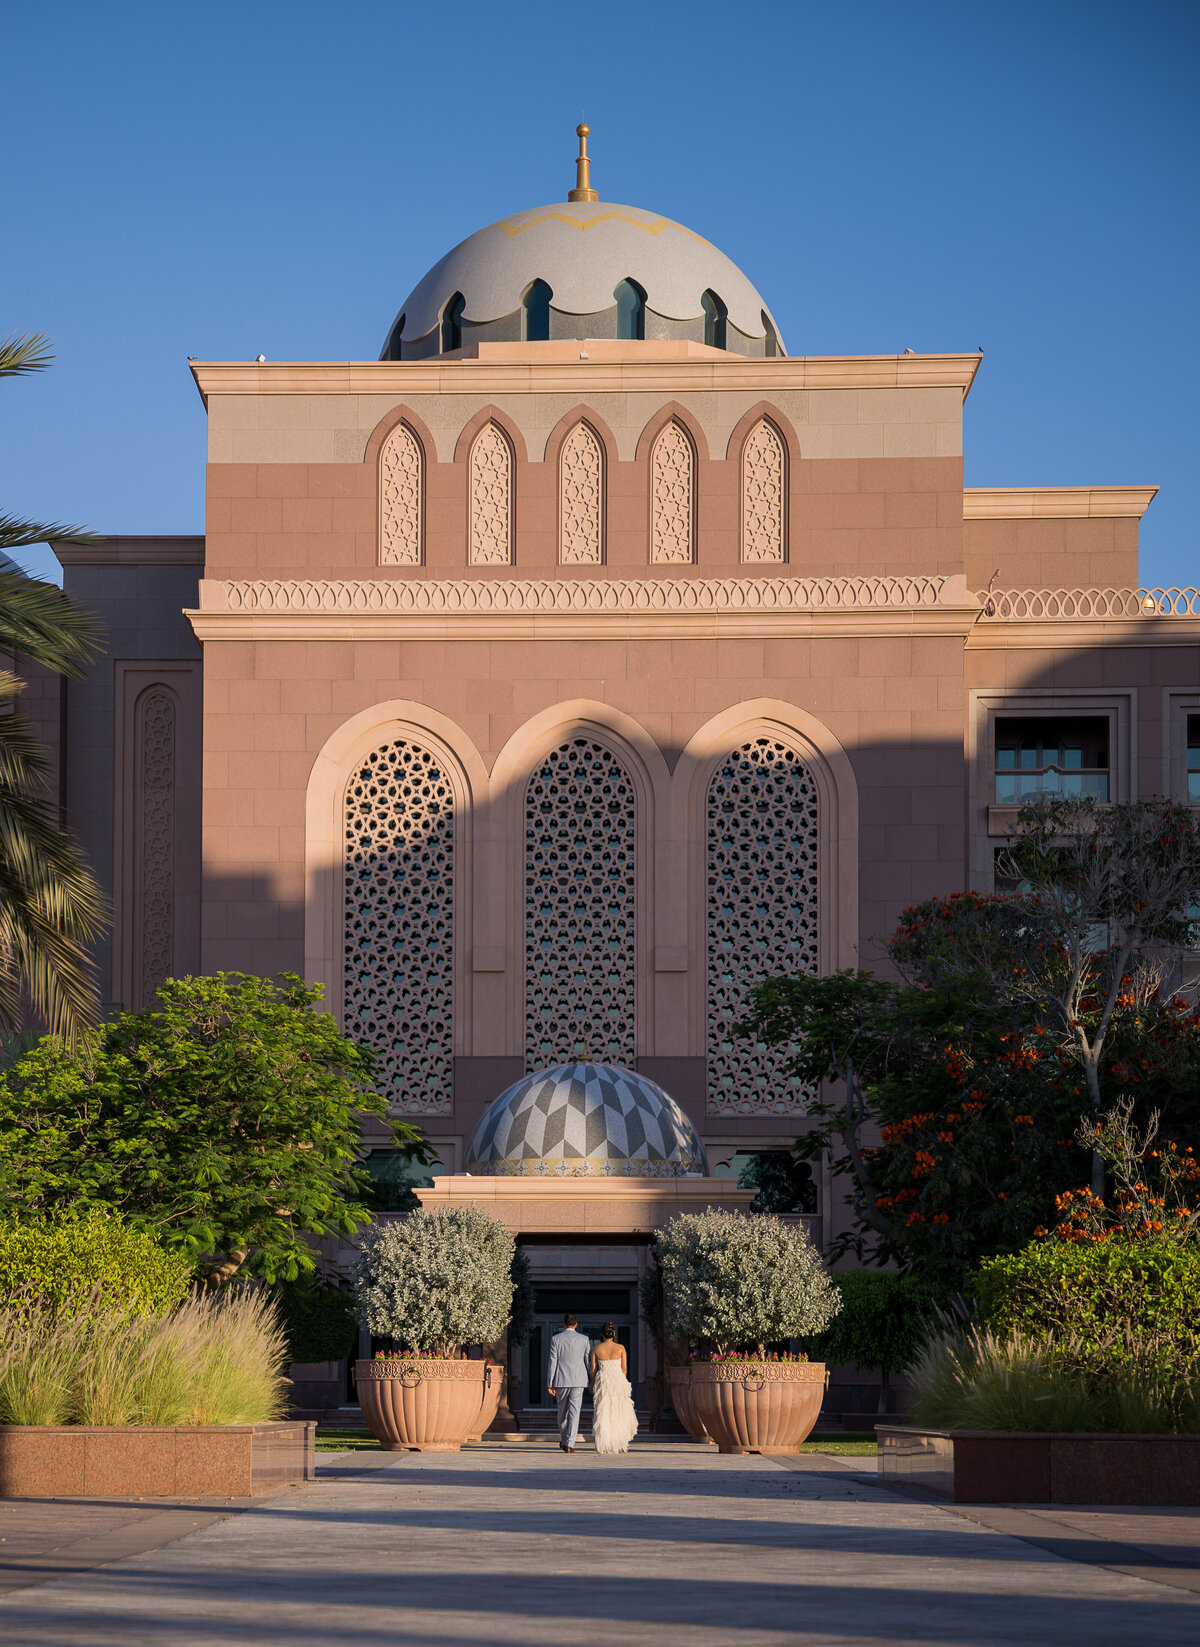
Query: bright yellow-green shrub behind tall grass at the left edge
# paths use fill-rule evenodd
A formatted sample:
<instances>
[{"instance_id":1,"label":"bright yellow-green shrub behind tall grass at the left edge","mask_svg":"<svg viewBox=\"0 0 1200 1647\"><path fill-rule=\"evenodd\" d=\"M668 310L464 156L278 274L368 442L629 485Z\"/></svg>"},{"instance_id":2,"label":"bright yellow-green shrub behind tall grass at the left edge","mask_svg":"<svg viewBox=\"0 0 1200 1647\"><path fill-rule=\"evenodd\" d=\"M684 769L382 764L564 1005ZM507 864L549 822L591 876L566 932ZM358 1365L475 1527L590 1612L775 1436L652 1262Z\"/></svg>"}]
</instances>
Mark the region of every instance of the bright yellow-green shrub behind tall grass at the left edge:
<instances>
[{"instance_id":1,"label":"bright yellow-green shrub behind tall grass at the left edge","mask_svg":"<svg viewBox=\"0 0 1200 1647\"><path fill-rule=\"evenodd\" d=\"M95 1207L0 1222L0 1306L114 1314L170 1309L193 1278L183 1253Z\"/></svg>"}]
</instances>

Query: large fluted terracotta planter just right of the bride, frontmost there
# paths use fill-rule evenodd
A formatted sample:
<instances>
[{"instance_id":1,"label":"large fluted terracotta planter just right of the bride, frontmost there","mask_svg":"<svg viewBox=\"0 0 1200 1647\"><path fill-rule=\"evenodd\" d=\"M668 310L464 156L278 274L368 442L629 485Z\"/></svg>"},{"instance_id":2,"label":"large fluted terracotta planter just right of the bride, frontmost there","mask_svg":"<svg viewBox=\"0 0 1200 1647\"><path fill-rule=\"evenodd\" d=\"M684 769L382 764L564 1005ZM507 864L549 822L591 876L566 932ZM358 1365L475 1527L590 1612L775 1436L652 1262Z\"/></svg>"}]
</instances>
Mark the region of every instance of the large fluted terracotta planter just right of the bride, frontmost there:
<instances>
[{"instance_id":1,"label":"large fluted terracotta planter just right of the bride, frontmost there","mask_svg":"<svg viewBox=\"0 0 1200 1647\"><path fill-rule=\"evenodd\" d=\"M823 1360L691 1362L696 1418L723 1453L795 1453L823 1398Z\"/></svg>"}]
</instances>

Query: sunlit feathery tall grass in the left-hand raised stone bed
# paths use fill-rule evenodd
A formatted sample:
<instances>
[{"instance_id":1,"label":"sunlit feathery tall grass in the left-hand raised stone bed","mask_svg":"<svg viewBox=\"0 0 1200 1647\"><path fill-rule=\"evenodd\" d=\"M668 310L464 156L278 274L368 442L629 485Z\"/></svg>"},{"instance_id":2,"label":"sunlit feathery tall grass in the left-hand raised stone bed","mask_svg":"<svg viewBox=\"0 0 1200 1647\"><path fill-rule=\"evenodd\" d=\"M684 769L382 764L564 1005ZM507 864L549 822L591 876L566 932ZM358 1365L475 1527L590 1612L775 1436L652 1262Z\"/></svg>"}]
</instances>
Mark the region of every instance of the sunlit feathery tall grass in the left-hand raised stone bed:
<instances>
[{"instance_id":1,"label":"sunlit feathery tall grass in the left-hand raised stone bed","mask_svg":"<svg viewBox=\"0 0 1200 1647\"><path fill-rule=\"evenodd\" d=\"M249 1425L286 1408L288 1341L263 1291L178 1309L0 1309L0 1423Z\"/></svg>"}]
</instances>

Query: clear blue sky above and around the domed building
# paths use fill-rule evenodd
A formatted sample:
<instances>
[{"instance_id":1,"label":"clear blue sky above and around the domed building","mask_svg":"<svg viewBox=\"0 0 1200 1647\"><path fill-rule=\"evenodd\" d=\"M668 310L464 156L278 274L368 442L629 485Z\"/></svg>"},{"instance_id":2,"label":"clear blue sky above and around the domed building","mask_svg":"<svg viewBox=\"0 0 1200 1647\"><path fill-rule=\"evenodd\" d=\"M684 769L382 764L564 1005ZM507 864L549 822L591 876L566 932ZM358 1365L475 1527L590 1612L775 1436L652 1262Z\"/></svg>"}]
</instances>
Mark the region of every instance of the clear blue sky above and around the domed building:
<instances>
[{"instance_id":1,"label":"clear blue sky above and around the domed building","mask_svg":"<svg viewBox=\"0 0 1200 1647\"><path fill-rule=\"evenodd\" d=\"M1157 483L1198 583L1200 8L1175 0L16 0L0 507L202 530L186 357L374 359L456 240L601 196L714 240L793 354L984 348L968 486ZM28 563L48 572L48 550Z\"/></svg>"}]
</instances>

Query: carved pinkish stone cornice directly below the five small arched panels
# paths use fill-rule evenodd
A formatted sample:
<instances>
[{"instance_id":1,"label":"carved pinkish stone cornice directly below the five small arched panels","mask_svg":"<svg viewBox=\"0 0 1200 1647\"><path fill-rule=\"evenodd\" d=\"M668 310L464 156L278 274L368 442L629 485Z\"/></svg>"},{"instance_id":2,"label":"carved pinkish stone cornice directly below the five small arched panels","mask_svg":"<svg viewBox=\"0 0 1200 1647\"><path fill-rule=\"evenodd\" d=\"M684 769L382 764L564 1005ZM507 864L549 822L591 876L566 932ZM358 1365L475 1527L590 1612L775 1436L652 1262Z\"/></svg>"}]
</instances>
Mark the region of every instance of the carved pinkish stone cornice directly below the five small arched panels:
<instances>
[{"instance_id":1,"label":"carved pinkish stone cornice directly below the five small arched panels","mask_svg":"<svg viewBox=\"0 0 1200 1647\"><path fill-rule=\"evenodd\" d=\"M201 641L965 636L963 578L588 578L201 583Z\"/></svg>"}]
</instances>

